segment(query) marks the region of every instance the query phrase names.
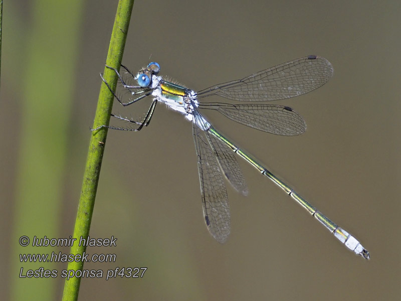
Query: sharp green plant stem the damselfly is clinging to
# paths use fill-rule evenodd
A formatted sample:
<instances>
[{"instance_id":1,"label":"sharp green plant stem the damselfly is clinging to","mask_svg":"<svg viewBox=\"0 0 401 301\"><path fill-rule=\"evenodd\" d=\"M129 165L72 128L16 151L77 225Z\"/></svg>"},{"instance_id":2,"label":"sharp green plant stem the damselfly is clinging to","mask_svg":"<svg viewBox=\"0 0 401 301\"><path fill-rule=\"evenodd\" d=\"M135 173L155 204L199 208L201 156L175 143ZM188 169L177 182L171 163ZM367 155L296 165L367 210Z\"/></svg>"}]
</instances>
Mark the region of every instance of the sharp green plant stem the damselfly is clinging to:
<instances>
[{"instance_id":1,"label":"sharp green plant stem the damselfly is clinging to","mask_svg":"<svg viewBox=\"0 0 401 301\"><path fill-rule=\"evenodd\" d=\"M118 3L117 14L114 21L113 32L111 34L109 51L107 54L106 64L117 70L120 69L122 55L124 52L125 40L128 32L129 21L131 19L131 11L134 0L120 0ZM104 78L112 89L117 84L116 74L108 69L104 69ZM110 121L110 113L113 105L113 95L102 82L99 94L99 100L96 109L93 128L100 125L108 125ZM77 218L74 227L74 245L71 247L71 254L83 254L86 246L79 246L81 237L87 238L89 235L90 223L92 220L93 207L95 204L96 190L99 181L100 167L106 143L107 128L102 128L92 132L88 158L86 161L84 179L82 183L81 197L79 200ZM68 270L82 270L84 263L82 261L70 262ZM64 284L63 301L72 301L78 299L80 277L66 278Z\"/></svg>"}]
</instances>

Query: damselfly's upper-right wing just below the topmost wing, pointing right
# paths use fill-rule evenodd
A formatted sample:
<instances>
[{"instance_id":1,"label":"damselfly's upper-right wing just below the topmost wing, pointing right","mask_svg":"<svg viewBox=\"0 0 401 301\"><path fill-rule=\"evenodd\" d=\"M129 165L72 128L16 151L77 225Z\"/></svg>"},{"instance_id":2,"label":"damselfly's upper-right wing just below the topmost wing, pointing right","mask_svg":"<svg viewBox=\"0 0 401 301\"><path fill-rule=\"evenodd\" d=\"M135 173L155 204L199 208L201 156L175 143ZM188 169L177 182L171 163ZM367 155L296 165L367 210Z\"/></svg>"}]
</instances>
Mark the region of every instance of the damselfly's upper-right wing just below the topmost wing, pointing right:
<instances>
[{"instance_id":1,"label":"damselfly's upper-right wing just below the topmost wing, pointing right","mask_svg":"<svg viewBox=\"0 0 401 301\"><path fill-rule=\"evenodd\" d=\"M201 103L199 108L219 111L238 123L276 135L294 136L306 130L304 119L288 106L216 102Z\"/></svg>"}]
</instances>

